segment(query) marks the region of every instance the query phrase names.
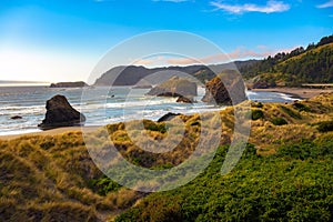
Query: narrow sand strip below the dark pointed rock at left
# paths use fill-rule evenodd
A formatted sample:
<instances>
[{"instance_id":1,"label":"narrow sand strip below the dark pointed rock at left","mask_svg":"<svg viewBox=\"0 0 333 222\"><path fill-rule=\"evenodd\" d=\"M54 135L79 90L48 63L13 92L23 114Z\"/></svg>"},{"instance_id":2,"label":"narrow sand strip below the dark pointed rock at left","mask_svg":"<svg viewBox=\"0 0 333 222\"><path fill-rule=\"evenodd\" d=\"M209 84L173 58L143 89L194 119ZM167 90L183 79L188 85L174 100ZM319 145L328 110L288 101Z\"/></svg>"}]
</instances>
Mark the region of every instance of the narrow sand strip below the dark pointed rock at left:
<instances>
[{"instance_id":1,"label":"narrow sand strip below the dark pointed rock at left","mask_svg":"<svg viewBox=\"0 0 333 222\"><path fill-rule=\"evenodd\" d=\"M84 127L84 132L92 132L101 127ZM57 128L46 131L39 132L30 132L30 133L22 133L22 134L10 134L10 135L0 135L0 140L13 140L21 137L34 137L34 135L57 135L67 132L82 132L81 127L65 127L65 128Z\"/></svg>"}]
</instances>

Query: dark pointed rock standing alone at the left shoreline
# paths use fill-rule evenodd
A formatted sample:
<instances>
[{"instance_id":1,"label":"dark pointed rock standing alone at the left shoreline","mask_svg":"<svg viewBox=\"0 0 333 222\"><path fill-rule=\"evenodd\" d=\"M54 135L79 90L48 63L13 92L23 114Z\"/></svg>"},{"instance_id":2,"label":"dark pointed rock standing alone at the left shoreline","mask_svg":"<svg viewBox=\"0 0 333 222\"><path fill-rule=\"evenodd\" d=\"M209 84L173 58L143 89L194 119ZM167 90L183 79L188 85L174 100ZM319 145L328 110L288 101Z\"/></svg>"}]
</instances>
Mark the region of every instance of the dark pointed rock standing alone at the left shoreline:
<instances>
[{"instance_id":1,"label":"dark pointed rock standing alone at the left shoreline","mask_svg":"<svg viewBox=\"0 0 333 222\"><path fill-rule=\"evenodd\" d=\"M85 117L74 110L63 95L54 95L47 101L46 119L38 127L47 130L60 127L82 125Z\"/></svg>"}]
</instances>

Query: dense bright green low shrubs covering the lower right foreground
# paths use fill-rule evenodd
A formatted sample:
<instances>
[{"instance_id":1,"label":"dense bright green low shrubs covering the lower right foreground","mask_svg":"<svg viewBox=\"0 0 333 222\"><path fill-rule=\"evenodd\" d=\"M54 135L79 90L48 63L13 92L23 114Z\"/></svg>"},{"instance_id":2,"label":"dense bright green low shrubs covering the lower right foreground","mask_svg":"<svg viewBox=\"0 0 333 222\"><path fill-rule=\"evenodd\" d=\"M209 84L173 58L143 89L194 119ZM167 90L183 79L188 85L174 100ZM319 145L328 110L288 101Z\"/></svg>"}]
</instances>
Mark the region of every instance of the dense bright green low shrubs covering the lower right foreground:
<instances>
[{"instance_id":1,"label":"dense bright green low shrubs covering the lower right foreground","mask_svg":"<svg viewBox=\"0 0 333 222\"><path fill-rule=\"evenodd\" d=\"M259 157L253 145L221 175L226 147L191 183L154 193L117 221L332 221L333 134Z\"/></svg>"}]
</instances>

